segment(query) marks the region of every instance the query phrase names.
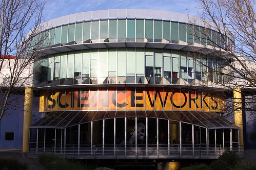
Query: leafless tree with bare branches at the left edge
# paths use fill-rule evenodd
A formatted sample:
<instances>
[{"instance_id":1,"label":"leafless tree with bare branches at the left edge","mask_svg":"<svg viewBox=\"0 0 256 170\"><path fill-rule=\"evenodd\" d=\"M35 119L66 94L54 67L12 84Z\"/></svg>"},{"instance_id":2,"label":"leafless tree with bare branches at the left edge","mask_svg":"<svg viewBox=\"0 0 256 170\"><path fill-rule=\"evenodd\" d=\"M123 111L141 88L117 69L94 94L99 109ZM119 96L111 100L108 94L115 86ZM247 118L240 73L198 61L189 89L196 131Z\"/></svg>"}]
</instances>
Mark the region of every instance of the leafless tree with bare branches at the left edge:
<instances>
[{"instance_id":1,"label":"leafless tree with bare branches at the left edge","mask_svg":"<svg viewBox=\"0 0 256 170\"><path fill-rule=\"evenodd\" d=\"M0 121L9 108L16 108L13 100L18 95L11 95L32 86L34 53L44 39L36 36L43 22L44 5L44 0L0 2Z\"/></svg>"}]
</instances>

